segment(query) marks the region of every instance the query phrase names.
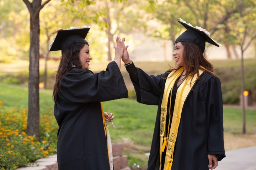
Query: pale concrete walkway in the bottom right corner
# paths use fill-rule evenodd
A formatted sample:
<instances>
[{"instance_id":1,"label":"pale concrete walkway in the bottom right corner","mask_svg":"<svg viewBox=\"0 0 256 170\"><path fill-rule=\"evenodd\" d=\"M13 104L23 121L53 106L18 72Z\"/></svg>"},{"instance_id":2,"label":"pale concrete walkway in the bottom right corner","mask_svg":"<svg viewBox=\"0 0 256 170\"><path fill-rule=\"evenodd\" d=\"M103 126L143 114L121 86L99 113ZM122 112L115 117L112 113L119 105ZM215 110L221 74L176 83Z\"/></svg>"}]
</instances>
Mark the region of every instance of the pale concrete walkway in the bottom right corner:
<instances>
[{"instance_id":1,"label":"pale concrete walkway in the bottom right corner","mask_svg":"<svg viewBox=\"0 0 256 170\"><path fill-rule=\"evenodd\" d=\"M226 151L216 170L256 170L256 146Z\"/></svg>"}]
</instances>

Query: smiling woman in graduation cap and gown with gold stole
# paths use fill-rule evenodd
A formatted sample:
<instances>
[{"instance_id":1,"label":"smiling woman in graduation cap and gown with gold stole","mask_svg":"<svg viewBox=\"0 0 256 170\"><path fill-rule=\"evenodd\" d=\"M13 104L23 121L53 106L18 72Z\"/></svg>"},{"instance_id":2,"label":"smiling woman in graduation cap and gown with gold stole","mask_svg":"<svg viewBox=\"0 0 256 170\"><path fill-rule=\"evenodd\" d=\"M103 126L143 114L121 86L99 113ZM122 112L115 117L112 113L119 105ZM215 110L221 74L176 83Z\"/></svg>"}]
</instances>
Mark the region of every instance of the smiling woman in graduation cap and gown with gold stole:
<instances>
[{"instance_id":1,"label":"smiling woman in graduation cap and gown with gold stole","mask_svg":"<svg viewBox=\"0 0 256 170\"><path fill-rule=\"evenodd\" d=\"M215 169L225 157L223 103L219 78L203 56L205 43L220 46L200 27L180 18L187 30L175 41L178 68L148 75L124 48L124 65L137 101L158 105L148 170Z\"/></svg>"}]
</instances>

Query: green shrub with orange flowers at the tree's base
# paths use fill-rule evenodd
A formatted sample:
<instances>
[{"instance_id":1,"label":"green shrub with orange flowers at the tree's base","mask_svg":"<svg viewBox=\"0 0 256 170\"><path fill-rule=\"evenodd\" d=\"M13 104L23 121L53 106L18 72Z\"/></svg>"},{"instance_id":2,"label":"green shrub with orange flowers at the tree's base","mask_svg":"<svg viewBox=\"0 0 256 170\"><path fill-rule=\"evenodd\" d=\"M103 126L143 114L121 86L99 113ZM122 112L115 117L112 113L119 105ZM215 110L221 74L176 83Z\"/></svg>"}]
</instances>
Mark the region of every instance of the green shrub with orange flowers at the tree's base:
<instances>
[{"instance_id":1,"label":"green shrub with orange flowers at the tree's base","mask_svg":"<svg viewBox=\"0 0 256 170\"><path fill-rule=\"evenodd\" d=\"M15 170L35 160L55 154L58 125L54 116L45 114L40 118L40 139L28 136L27 111L17 108L6 111L0 101L0 170Z\"/></svg>"}]
</instances>

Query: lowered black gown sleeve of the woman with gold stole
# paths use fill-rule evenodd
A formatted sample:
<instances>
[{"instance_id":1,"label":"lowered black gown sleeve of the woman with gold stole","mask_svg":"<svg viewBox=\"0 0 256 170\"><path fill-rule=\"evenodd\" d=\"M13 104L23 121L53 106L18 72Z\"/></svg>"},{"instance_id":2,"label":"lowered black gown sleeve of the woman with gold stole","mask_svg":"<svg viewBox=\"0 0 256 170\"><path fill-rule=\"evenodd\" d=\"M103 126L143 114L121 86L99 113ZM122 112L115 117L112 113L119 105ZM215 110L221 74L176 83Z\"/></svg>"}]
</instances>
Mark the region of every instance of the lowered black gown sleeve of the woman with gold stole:
<instances>
[{"instance_id":1,"label":"lowered black gown sleeve of the woman with gold stole","mask_svg":"<svg viewBox=\"0 0 256 170\"><path fill-rule=\"evenodd\" d=\"M225 157L223 139L223 103L220 80L212 77L204 85L207 109L207 154L217 155L218 161Z\"/></svg>"}]
</instances>

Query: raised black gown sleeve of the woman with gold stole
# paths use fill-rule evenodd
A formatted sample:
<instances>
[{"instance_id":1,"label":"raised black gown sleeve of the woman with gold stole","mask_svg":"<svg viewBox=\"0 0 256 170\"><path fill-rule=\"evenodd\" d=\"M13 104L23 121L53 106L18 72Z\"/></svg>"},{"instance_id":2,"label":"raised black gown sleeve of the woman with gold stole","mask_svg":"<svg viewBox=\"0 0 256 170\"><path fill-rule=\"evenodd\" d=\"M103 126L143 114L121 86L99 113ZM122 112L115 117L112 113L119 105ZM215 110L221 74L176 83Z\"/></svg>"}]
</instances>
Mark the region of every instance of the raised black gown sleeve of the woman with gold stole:
<instances>
[{"instance_id":1,"label":"raised black gown sleeve of the woman with gold stole","mask_svg":"<svg viewBox=\"0 0 256 170\"><path fill-rule=\"evenodd\" d=\"M162 92L162 85L164 79L161 75L148 75L142 69L136 68L134 64L126 67L129 73L130 79L132 80L137 102L148 104L148 105L158 105L160 101L160 96Z\"/></svg>"}]
</instances>

